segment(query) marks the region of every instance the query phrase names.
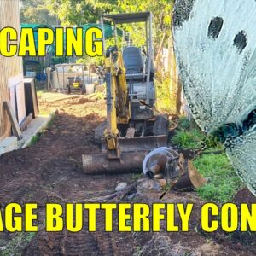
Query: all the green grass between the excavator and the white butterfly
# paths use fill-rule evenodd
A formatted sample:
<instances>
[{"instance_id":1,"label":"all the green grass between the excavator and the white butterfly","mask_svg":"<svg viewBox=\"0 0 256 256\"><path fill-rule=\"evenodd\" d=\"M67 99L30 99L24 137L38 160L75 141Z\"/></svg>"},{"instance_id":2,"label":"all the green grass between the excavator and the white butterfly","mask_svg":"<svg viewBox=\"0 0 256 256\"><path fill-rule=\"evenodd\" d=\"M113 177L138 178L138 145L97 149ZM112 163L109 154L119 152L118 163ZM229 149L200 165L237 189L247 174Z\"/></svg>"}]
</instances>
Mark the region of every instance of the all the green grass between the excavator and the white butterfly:
<instances>
[{"instance_id":1,"label":"all the green grass between the excavator and the white butterfly","mask_svg":"<svg viewBox=\"0 0 256 256\"><path fill-rule=\"evenodd\" d=\"M176 135L172 137L172 144L179 148L201 148L206 135L198 129L189 130L189 120L182 117L178 123ZM224 149L218 144L206 151ZM208 178L208 183L197 189L198 195L207 201L220 203L231 201L243 183L236 175L226 154L201 154L193 160L194 166L203 177Z\"/></svg>"}]
</instances>

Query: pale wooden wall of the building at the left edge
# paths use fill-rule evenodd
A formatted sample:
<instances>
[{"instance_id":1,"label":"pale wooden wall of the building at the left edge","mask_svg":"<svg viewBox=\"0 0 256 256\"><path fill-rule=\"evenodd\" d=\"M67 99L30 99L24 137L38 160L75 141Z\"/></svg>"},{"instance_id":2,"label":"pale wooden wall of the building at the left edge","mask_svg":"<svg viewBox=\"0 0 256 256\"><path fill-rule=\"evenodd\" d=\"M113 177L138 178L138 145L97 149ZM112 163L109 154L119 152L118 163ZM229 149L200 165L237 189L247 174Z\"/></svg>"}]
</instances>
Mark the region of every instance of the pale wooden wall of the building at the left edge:
<instances>
[{"instance_id":1,"label":"pale wooden wall of the building at the left edge","mask_svg":"<svg viewBox=\"0 0 256 256\"><path fill-rule=\"evenodd\" d=\"M12 26L20 34L20 0L0 1L0 29ZM13 43L12 43L13 44ZM22 59L0 55L0 139L8 137L11 125L3 102L9 100L8 79L22 72Z\"/></svg>"}]
</instances>

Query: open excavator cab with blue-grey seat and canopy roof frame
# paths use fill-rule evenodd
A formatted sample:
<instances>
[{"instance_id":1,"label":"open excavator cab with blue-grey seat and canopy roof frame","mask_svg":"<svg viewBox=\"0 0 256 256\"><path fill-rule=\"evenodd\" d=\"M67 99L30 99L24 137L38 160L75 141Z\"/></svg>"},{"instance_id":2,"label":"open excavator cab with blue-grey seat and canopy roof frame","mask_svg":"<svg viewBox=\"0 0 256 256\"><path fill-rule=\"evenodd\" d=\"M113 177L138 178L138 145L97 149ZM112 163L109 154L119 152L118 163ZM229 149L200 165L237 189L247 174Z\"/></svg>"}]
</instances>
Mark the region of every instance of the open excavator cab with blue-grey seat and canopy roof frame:
<instances>
[{"instance_id":1,"label":"open excavator cab with blue-grey seat and canopy roof frame","mask_svg":"<svg viewBox=\"0 0 256 256\"><path fill-rule=\"evenodd\" d=\"M104 20L113 24L115 44L118 41L118 25L143 22L145 26L144 47L132 45L131 39L128 39L128 42L122 39L123 45L120 49L125 65L125 78L131 101L131 119L133 120L149 119L154 116L152 111L155 103L152 19L151 12L103 15L101 19L102 25ZM125 43L128 45L125 46ZM146 105L149 108L146 108Z\"/></svg>"}]
</instances>

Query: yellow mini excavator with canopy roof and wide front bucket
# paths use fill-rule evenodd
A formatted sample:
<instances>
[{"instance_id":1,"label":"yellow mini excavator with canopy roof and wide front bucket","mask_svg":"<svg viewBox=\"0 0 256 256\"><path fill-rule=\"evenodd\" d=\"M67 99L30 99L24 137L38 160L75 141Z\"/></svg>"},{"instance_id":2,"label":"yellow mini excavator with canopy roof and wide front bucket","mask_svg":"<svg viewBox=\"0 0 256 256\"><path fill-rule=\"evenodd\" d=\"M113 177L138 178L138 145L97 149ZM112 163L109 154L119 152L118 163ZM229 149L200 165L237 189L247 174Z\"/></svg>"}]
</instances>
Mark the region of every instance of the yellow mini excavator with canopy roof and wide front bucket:
<instances>
[{"instance_id":1,"label":"yellow mini excavator with canopy roof and wide front bucket","mask_svg":"<svg viewBox=\"0 0 256 256\"><path fill-rule=\"evenodd\" d=\"M102 26L104 20L113 22L115 32L115 45L104 50L107 120L95 131L102 153L83 155L84 172L135 172L142 170L148 151L166 146L168 133L167 118L153 110L152 15L103 15ZM118 49L116 25L136 22L145 23L146 49L131 44Z\"/></svg>"}]
</instances>

